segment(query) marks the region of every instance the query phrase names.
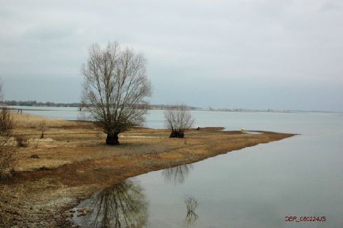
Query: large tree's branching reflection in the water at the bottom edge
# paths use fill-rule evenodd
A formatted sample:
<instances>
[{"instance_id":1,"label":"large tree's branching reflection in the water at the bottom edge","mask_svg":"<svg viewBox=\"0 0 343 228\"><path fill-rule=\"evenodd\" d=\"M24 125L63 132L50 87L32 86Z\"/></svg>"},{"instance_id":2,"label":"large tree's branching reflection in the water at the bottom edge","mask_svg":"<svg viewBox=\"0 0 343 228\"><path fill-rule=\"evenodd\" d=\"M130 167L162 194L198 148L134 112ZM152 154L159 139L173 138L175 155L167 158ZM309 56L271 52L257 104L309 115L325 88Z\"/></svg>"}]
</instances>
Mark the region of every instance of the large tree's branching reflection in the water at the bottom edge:
<instances>
[{"instance_id":1,"label":"large tree's branching reflection in the water at the bottom edge","mask_svg":"<svg viewBox=\"0 0 343 228\"><path fill-rule=\"evenodd\" d=\"M82 227L138 228L147 224L145 195L142 188L130 180L107 187L86 205L93 207L91 213L75 218Z\"/></svg>"}]
</instances>

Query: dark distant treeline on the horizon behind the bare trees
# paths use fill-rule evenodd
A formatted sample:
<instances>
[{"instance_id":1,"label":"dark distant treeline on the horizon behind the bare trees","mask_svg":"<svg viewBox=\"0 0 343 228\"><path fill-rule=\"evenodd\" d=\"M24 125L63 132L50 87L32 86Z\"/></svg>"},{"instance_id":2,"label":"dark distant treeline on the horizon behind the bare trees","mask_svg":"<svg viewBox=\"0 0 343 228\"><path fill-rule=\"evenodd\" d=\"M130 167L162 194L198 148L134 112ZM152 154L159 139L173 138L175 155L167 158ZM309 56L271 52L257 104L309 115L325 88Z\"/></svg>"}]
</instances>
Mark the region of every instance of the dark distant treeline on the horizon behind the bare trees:
<instances>
[{"instance_id":1,"label":"dark distant treeline on the horizon behind the bare trees","mask_svg":"<svg viewBox=\"0 0 343 228\"><path fill-rule=\"evenodd\" d=\"M36 100L7 100L5 104L10 106L49 106L49 107L81 107L81 103L54 103L54 102L37 102ZM173 109L176 105L166 104L151 104L150 109ZM187 106L187 109L196 110L200 109L193 106Z\"/></svg>"}]
</instances>

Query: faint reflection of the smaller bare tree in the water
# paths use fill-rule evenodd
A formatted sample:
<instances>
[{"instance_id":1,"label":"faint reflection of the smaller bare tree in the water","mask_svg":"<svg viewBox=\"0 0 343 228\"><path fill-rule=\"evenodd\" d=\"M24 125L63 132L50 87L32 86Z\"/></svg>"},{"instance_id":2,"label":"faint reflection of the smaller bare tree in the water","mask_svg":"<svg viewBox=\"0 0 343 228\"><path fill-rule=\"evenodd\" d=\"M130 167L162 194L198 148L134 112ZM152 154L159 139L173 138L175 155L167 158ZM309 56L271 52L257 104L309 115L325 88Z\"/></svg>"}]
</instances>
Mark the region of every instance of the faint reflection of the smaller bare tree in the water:
<instances>
[{"instance_id":1,"label":"faint reflection of the smaller bare tree in the water","mask_svg":"<svg viewBox=\"0 0 343 228\"><path fill-rule=\"evenodd\" d=\"M174 183L184 183L189 172L193 169L191 164L167 168L162 171L165 181Z\"/></svg>"}]
</instances>

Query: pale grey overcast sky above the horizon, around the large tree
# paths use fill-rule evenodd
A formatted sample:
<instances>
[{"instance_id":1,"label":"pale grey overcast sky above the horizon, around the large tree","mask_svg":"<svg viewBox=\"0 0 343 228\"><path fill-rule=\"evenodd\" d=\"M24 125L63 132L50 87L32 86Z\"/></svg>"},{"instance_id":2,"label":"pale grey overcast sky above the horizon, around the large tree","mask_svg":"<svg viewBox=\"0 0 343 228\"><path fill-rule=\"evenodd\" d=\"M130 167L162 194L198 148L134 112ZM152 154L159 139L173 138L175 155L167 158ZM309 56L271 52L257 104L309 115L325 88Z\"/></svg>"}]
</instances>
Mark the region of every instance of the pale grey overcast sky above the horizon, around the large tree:
<instances>
[{"instance_id":1,"label":"pale grey overcast sky above the horizon, around the large tree","mask_svg":"<svg viewBox=\"0 0 343 228\"><path fill-rule=\"evenodd\" d=\"M343 111L343 1L2 1L6 100L78 102L92 43L147 58L152 104Z\"/></svg>"}]
</instances>

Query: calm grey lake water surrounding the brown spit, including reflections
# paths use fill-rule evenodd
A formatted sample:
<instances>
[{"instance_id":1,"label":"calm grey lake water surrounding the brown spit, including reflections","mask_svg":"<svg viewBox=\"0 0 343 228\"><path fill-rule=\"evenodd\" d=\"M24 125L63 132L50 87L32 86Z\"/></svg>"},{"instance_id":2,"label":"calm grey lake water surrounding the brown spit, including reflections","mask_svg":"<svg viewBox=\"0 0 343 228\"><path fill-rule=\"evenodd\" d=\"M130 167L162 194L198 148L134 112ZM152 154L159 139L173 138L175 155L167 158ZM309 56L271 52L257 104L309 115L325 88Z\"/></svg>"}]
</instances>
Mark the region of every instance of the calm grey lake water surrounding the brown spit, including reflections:
<instances>
[{"instance_id":1,"label":"calm grey lake water surrounding the brown spit, including reflections","mask_svg":"<svg viewBox=\"0 0 343 228\"><path fill-rule=\"evenodd\" d=\"M78 115L51 113L47 116ZM75 222L84 227L126 227L125 220L132 227L343 227L343 115L193 114L196 126L301 135L128 179L82 202L78 207L92 207L93 213L75 216ZM163 111L150 111L146 126L163 125ZM189 214L187 196L198 203ZM285 216L327 220L285 222Z\"/></svg>"}]
</instances>

